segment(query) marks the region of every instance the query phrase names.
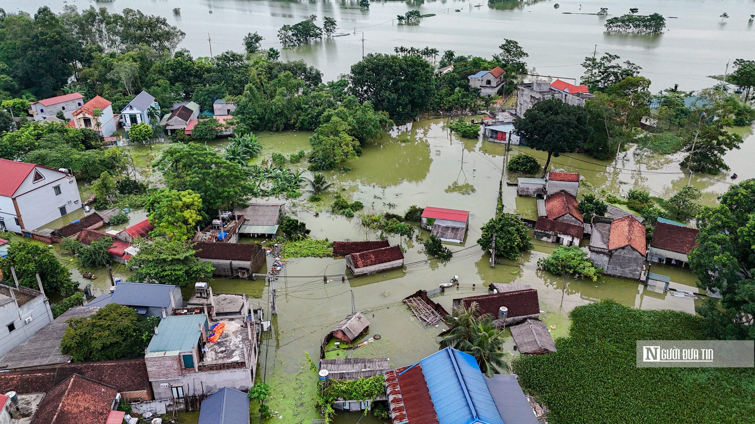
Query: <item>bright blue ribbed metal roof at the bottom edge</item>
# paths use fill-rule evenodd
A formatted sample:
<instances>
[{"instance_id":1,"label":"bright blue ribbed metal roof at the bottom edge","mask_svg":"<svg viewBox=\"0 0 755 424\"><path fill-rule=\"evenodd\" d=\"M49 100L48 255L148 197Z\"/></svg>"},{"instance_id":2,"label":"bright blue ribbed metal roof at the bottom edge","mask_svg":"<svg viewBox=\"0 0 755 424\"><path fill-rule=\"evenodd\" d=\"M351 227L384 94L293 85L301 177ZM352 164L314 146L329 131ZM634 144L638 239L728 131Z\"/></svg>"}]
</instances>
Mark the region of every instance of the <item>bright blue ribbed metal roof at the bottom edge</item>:
<instances>
[{"instance_id":1,"label":"bright blue ribbed metal roof at the bottom edge","mask_svg":"<svg viewBox=\"0 0 755 424\"><path fill-rule=\"evenodd\" d=\"M440 424L504 424L472 355L445 348L420 364Z\"/></svg>"}]
</instances>

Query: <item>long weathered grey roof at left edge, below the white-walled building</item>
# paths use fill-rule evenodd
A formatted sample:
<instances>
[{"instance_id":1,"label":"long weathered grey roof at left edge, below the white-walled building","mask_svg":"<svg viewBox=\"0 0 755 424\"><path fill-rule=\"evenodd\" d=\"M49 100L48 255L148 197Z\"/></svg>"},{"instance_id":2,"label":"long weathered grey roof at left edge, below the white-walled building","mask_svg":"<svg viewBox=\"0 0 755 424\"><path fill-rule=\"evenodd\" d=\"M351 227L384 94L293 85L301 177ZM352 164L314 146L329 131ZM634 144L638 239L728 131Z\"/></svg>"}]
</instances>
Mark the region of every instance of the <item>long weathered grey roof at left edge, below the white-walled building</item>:
<instances>
[{"instance_id":1,"label":"long weathered grey roof at left edge, below the white-walled building","mask_svg":"<svg viewBox=\"0 0 755 424\"><path fill-rule=\"evenodd\" d=\"M97 312L97 307L74 306L55 318L50 324L40 328L20 345L11 349L0 359L0 367L14 370L26 367L65 364L71 357L60 352L60 340L66 333L69 318L85 317Z\"/></svg>"}]
</instances>

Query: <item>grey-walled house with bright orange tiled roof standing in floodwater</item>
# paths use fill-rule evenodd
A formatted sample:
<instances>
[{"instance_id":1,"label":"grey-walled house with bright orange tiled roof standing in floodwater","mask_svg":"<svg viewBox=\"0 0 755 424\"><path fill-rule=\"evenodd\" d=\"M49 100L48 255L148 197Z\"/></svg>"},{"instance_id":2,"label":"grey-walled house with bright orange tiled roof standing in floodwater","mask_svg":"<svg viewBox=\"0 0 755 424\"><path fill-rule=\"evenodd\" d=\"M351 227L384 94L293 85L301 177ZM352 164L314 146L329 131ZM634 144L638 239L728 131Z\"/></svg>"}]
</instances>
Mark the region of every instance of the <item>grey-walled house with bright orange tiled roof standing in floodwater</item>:
<instances>
[{"instance_id":1,"label":"grey-walled house with bright orange tiled roof standing in floodwater","mask_svg":"<svg viewBox=\"0 0 755 424\"><path fill-rule=\"evenodd\" d=\"M590 260L606 275L644 281L647 242L645 226L631 216L612 220L593 217Z\"/></svg>"}]
</instances>

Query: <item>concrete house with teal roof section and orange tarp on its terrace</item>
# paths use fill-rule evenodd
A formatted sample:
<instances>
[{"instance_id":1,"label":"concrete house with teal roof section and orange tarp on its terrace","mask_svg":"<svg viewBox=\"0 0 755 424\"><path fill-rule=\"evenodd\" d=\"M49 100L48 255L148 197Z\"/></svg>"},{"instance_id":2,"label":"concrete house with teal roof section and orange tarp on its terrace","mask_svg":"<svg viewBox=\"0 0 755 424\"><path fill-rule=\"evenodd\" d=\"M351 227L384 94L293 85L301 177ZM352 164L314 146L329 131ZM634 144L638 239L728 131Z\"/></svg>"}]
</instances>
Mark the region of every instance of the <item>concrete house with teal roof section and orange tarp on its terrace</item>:
<instances>
[{"instance_id":1,"label":"concrete house with teal roof section and orange tarp on its terrace","mask_svg":"<svg viewBox=\"0 0 755 424\"><path fill-rule=\"evenodd\" d=\"M248 390L257 367L255 321L171 315L160 321L144 361L156 399Z\"/></svg>"}]
</instances>

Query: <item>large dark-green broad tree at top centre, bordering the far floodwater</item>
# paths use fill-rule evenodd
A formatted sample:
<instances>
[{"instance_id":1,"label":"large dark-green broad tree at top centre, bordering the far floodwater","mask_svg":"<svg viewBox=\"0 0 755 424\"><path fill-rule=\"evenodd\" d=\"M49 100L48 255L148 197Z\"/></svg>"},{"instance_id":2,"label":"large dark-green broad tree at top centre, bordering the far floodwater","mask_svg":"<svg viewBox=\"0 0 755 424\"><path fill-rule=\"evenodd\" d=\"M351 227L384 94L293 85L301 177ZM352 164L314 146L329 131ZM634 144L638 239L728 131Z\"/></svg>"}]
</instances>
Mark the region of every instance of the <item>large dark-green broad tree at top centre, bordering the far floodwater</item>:
<instances>
[{"instance_id":1,"label":"large dark-green broad tree at top centre, bordering the far floodwater","mask_svg":"<svg viewBox=\"0 0 755 424\"><path fill-rule=\"evenodd\" d=\"M410 119L433 99L434 67L415 55L368 54L351 66L351 92L392 118Z\"/></svg>"}]
</instances>

